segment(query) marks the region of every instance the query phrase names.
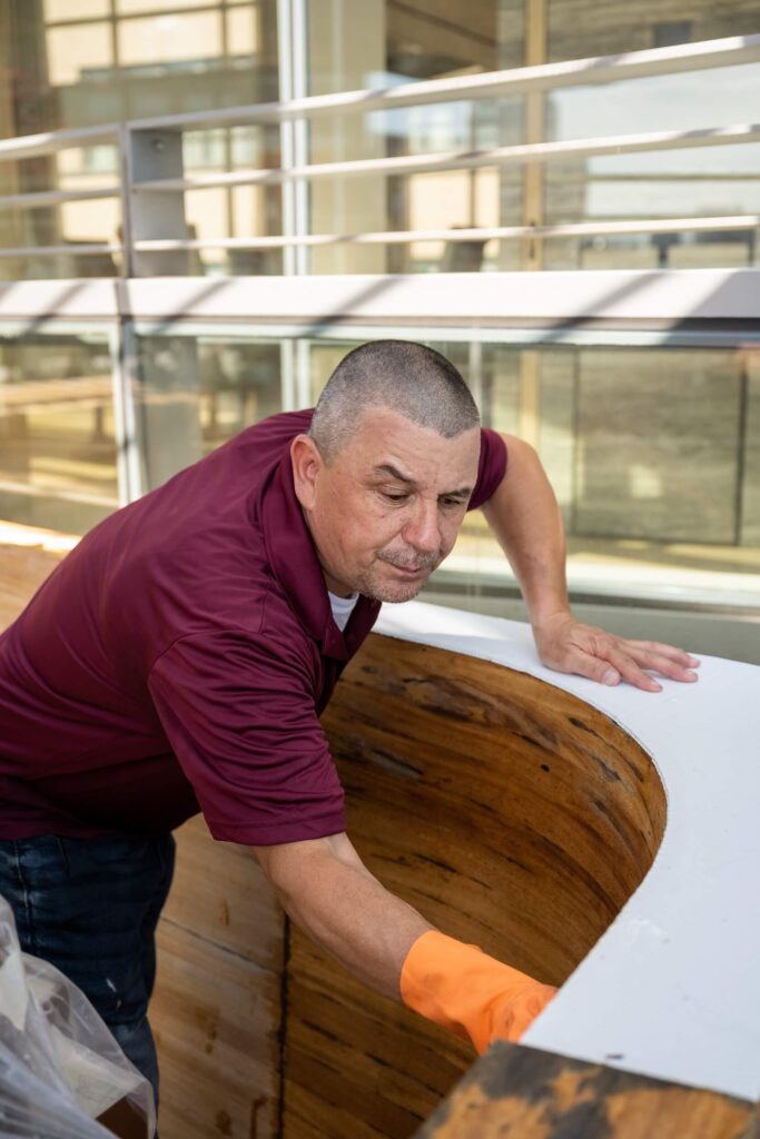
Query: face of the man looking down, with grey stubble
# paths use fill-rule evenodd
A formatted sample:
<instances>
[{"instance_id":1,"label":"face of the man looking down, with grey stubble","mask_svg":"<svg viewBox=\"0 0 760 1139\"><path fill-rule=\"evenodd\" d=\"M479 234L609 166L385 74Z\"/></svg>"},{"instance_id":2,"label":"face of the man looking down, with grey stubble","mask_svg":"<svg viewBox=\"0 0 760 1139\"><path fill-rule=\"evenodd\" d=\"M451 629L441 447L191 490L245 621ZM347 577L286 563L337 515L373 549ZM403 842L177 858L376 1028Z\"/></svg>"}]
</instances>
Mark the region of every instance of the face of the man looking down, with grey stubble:
<instances>
[{"instance_id":1,"label":"face of the man looking down, with grey stubble","mask_svg":"<svg viewBox=\"0 0 760 1139\"><path fill-rule=\"evenodd\" d=\"M476 427L443 439L389 408L366 411L330 466L299 436L296 494L328 589L379 601L415 597L453 547L480 442Z\"/></svg>"}]
</instances>

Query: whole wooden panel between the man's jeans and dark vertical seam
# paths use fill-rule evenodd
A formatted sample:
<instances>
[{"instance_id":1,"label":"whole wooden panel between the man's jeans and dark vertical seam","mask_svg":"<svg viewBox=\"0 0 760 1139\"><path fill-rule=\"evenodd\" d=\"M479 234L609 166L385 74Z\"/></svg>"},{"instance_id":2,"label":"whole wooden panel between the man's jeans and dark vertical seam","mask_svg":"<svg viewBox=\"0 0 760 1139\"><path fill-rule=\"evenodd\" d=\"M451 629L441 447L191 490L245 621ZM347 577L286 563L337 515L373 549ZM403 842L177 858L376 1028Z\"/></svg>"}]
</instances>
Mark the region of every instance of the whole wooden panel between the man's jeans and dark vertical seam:
<instances>
[{"instance_id":1,"label":"whole wooden panel between the man's jeans and dark vertical seam","mask_svg":"<svg viewBox=\"0 0 760 1139\"><path fill-rule=\"evenodd\" d=\"M273 1139L285 917L251 850L180 827L150 1022L162 1139Z\"/></svg>"}]
</instances>

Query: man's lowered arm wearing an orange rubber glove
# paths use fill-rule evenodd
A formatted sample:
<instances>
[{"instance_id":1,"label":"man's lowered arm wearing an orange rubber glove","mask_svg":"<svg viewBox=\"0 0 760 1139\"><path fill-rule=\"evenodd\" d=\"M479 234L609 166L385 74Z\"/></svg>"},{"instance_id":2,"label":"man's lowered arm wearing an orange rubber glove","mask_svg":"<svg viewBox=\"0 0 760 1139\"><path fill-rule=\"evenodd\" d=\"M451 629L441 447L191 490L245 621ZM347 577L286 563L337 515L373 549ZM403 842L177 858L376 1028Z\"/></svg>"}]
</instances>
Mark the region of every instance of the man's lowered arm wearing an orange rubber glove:
<instances>
[{"instance_id":1,"label":"man's lowered arm wearing an orange rubber glove","mask_svg":"<svg viewBox=\"0 0 760 1139\"><path fill-rule=\"evenodd\" d=\"M439 933L389 893L348 835L255 846L295 924L370 989L483 1051L517 1040L555 990Z\"/></svg>"}]
</instances>

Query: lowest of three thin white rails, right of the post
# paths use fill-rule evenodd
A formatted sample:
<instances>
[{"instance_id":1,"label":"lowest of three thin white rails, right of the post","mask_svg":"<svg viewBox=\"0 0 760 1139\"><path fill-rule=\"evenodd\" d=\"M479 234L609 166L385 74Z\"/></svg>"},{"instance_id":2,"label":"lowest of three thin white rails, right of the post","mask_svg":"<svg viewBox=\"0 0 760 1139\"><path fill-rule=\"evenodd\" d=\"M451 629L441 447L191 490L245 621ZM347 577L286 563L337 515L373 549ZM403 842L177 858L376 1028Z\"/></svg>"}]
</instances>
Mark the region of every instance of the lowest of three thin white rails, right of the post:
<instances>
[{"instance_id":1,"label":"lowest of three thin white rails, right of the post","mask_svg":"<svg viewBox=\"0 0 760 1139\"><path fill-rule=\"evenodd\" d=\"M295 245L406 245L412 241L490 241L531 237L602 237L626 233L690 233L760 228L760 214L724 218L657 218L636 221L569 222L556 226L490 226L463 229L389 230L367 233L308 233L303 236L172 238L134 241L140 253L182 249L278 249Z\"/></svg>"}]
</instances>

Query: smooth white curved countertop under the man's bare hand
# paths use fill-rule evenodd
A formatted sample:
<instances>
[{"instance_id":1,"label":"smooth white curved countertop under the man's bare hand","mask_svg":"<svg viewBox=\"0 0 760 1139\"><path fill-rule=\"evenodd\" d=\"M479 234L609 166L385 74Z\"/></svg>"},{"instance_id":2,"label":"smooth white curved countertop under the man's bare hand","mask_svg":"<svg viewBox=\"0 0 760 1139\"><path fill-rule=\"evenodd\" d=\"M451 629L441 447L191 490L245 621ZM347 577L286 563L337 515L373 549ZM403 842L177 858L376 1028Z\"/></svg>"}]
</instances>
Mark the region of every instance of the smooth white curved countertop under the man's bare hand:
<instances>
[{"instance_id":1,"label":"smooth white curved countertop under the man's bare hand","mask_svg":"<svg viewBox=\"0 0 760 1139\"><path fill-rule=\"evenodd\" d=\"M696 683L649 694L542 667L515 621L410 601L384 606L376 631L573 693L640 743L664 785L649 872L521 1042L758 1099L760 667L702 657Z\"/></svg>"}]
</instances>

